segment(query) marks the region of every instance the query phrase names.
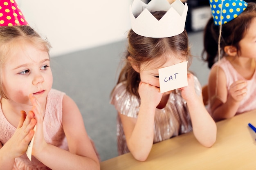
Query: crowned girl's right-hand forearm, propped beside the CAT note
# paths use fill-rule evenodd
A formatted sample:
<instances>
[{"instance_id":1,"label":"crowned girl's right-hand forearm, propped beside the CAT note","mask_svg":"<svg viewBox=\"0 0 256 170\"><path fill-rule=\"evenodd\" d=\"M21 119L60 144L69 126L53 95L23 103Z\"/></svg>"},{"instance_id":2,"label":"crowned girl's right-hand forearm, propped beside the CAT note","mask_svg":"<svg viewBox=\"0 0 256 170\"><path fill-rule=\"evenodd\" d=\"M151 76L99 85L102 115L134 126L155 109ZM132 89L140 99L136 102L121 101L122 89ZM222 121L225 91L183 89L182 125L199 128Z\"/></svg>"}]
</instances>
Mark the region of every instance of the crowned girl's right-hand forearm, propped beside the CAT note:
<instances>
[{"instance_id":1,"label":"crowned girl's right-hand forearm, propped beside the CAT note","mask_svg":"<svg viewBox=\"0 0 256 170\"><path fill-rule=\"evenodd\" d=\"M216 141L216 123L203 104L202 94L198 96L195 93L193 79L193 75L189 73L188 86L181 88L182 97L189 108L195 138L203 146L211 147Z\"/></svg>"}]
</instances>

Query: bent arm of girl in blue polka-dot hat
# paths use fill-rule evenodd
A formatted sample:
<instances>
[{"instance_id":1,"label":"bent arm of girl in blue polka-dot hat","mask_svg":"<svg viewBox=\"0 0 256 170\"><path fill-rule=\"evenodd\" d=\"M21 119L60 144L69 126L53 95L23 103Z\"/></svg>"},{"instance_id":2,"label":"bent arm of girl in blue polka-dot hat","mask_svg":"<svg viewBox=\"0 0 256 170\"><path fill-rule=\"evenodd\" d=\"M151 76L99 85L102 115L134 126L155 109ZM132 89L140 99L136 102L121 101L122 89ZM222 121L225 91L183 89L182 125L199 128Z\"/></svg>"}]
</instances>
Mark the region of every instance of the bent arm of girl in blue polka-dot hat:
<instances>
[{"instance_id":1,"label":"bent arm of girl in blue polka-dot hat","mask_svg":"<svg viewBox=\"0 0 256 170\"><path fill-rule=\"evenodd\" d=\"M213 119L219 121L234 117L240 101L246 95L246 82L234 82L228 92L225 73L220 67L215 66L211 69L208 87Z\"/></svg>"}]
</instances>

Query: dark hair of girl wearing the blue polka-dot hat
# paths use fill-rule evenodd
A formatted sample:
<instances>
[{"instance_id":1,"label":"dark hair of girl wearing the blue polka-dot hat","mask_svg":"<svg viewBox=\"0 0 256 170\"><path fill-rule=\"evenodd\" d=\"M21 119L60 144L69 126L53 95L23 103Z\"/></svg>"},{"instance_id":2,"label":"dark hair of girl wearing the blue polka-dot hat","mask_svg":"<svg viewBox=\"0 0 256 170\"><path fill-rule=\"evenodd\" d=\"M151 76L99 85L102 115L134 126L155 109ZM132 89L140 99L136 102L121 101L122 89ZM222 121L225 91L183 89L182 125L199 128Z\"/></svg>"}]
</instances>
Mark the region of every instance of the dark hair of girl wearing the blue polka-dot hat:
<instances>
[{"instance_id":1,"label":"dark hair of girl wearing the blue polka-dot hat","mask_svg":"<svg viewBox=\"0 0 256 170\"><path fill-rule=\"evenodd\" d=\"M239 42L245 36L252 19L256 17L256 3L249 2L245 11L238 17L222 25L220 52L221 57L224 55L225 46L234 46L239 51ZM208 67L211 68L217 61L218 53L218 37L220 26L216 26L213 18L210 18L204 28L204 49L202 51L202 58L208 62ZM206 56L205 56L206 55Z\"/></svg>"}]
</instances>

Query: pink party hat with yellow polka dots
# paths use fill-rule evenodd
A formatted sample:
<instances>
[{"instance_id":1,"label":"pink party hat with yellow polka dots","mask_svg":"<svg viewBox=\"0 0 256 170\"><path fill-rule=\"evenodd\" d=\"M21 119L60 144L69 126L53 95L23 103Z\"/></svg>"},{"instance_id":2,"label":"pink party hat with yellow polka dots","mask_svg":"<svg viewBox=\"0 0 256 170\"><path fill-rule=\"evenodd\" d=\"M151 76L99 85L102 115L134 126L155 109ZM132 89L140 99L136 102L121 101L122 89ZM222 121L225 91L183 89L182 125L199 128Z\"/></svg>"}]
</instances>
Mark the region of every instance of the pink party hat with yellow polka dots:
<instances>
[{"instance_id":1,"label":"pink party hat with yellow polka dots","mask_svg":"<svg viewBox=\"0 0 256 170\"><path fill-rule=\"evenodd\" d=\"M0 0L0 26L28 25L15 0Z\"/></svg>"}]
</instances>

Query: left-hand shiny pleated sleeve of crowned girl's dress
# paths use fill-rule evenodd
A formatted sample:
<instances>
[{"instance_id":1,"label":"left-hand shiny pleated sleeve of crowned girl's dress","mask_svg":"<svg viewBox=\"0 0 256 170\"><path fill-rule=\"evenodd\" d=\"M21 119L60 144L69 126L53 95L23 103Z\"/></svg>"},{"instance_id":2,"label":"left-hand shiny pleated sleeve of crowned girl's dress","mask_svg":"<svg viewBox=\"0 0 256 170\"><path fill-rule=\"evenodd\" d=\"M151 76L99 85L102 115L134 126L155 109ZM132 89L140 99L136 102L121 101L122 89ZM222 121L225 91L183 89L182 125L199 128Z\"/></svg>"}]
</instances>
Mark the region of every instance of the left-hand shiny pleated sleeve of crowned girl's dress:
<instances>
[{"instance_id":1,"label":"left-hand shiny pleated sleeve of crowned girl's dress","mask_svg":"<svg viewBox=\"0 0 256 170\"><path fill-rule=\"evenodd\" d=\"M136 118L139 113L140 99L128 93L126 82L121 82L112 91L110 104L114 105L122 115Z\"/></svg>"}]
</instances>

